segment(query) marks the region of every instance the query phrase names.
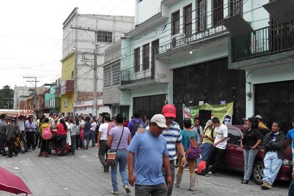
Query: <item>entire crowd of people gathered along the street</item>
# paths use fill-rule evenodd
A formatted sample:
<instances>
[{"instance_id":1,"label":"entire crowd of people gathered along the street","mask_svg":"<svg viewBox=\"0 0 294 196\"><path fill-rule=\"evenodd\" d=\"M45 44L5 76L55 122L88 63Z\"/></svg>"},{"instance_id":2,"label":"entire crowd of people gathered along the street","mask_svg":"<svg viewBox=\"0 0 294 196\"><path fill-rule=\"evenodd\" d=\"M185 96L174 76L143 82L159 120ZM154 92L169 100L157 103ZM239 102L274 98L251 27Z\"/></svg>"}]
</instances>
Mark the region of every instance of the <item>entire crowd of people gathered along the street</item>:
<instances>
[{"instance_id":1,"label":"entire crowd of people gathered along the street","mask_svg":"<svg viewBox=\"0 0 294 196\"><path fill-rule=\"evenodd\" d=\"M136 113L130 121L121 114L114 118L106 114L103 117L99 116L97 120L95 117L82 116L62 118L53 114L49 117L42 115L35 119L2 115L1 153L3 156L7 155L4 147L4 143L7 143L9 152L7 157L12 157L12 145L18 132L25 132L28 149L40 148L39 157L49 157L49 144L54 141L60 141L61 144L61 152L58 156L64 156L68 147L71 149L71 155L74 155L75 150L86 150L89 149L90 144L90 148L96 145L99 148L98 157L104 168L103 171L109 172L109 168L111 169L113 195L119 195L117 181L119 166L126 193L130 193L129 185L131 185L135 186L136 196L171 196L173 185L180 187L184 169L187 167L186 163L190 173L189 191L195 190L196 165L199 158L192 156L191 152L198 153L200 161L205 162L204 173L199 171L198 173L207 177L213 176L221 169L228 139L227 125L217 117L208 120L204 128L200 126L198 117L193 122L186 118L183 120L183 130L174 122L175 117L176 108L172 104L165 105L162 114L156 114L150 120L148 116L140 119ZM281 123L273 122L271 131L263 136L259 128L265 128L266 125L262 123L260 115L244 121L248 129L244 132L240 144L244 149L245 165L241 183L248 184L258 146L263 144L265 169L261 188L270 189L285 159L284 147L294 141L294 129L285 136L281 131ZM48 130L52 136L46 138L44 135ZM294 145L292 148L294 151ZM199 151L197 152L196 149ZM107 154L114 152L115 164L109 165ZM175 172L176 159L178 159L177 172ZM292 176L294 177L294 172ZM294 181L289 188L289 196L293 195Z\"/></svg>"}]
</instances>

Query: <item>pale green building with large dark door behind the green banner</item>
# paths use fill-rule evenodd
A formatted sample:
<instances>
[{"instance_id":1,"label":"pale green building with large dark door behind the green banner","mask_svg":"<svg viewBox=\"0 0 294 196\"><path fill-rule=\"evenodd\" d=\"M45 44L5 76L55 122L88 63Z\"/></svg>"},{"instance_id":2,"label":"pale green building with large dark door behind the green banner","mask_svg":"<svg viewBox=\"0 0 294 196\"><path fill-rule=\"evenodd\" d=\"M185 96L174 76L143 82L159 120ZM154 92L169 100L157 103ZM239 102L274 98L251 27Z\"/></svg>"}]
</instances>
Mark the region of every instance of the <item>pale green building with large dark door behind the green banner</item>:
<instances>
[{"instance_id":1,"label":"pale green building with large dark door behind the green banner","mask_svg":"<svg viewBox=\"0 0 294 196\"><path fill-rule=\"evenodd\" d=\"M250 1L250 0L249 0ZM225 18L242 14L242 0L138 0L136 26L122 41L121 101L153 116L166 102L234 101L233 123L245 116L245 71L228 70ZM148 10L148 11L146 11Z\"/></svg>"}]
</instances>

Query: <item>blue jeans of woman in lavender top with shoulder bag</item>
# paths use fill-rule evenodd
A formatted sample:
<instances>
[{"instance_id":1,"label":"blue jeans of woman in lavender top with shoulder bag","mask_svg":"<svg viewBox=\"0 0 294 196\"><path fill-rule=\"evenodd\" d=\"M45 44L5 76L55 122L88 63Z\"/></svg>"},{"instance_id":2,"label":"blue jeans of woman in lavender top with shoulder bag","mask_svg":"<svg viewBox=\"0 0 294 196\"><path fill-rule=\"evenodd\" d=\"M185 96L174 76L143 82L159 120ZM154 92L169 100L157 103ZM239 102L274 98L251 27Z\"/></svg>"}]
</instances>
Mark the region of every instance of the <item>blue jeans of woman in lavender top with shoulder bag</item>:
<instances>
[{"instance_id":1,"label":"blue jeans of woman in lavender top with shoulder bag","mask_svg":"<svg viewBox=\"0 0 294 196\"><path fill-rule=\"evenodd\" d=\"M119 191L118 179L117 179L118 163L120 165L120 173L123 180L123 186L128 186L128 179L127 179L127 175L125 171L125 167L127 163L127 150L118 149L115 161L116 161L116 166L110 166L111 182L112 182L113 191Z\"/></svg>"}]
</instances>

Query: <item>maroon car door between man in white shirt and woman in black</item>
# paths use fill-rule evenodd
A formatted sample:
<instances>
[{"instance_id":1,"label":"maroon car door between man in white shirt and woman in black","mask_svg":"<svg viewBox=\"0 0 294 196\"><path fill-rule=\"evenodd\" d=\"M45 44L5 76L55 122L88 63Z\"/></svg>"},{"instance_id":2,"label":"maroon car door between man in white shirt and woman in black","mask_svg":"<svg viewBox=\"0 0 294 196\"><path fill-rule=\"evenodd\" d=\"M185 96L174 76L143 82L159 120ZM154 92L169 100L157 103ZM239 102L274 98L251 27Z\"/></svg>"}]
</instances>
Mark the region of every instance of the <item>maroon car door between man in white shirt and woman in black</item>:
<instances>
[{"instance_id":1,"label":"maroon car door between man in white shirt and woman in black","mask_svg":"<svg viewBox=\"0 0 294 196\"><path fill-rule=\"evenodd\" d=\"M242 134L239 129L228 127L227 146L224 152L224 167L244 170L243 149L240 147Z\"/></svg>"}]
</instances>

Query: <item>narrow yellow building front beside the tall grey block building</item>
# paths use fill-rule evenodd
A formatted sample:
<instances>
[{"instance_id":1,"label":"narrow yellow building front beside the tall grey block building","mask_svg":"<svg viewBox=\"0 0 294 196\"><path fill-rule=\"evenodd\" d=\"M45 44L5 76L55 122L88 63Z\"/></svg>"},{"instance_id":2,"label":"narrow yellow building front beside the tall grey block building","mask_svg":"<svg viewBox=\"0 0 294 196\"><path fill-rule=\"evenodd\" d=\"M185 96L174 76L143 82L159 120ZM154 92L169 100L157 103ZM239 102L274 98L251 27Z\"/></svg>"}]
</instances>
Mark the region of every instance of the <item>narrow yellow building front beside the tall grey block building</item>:
<instances>
[{"instance_id":1,"label":"narrow yellow building front beside the tall grey block building","mask_svg":"<svg viewBox=\"0 0 294 196\"><path fill-rule=\"evenodd\" d=\"M72 53L66 58L62 59L62 73L61 73L61 107L60 112L64 116L73 115L73 101L74 101L74 64L75 54Z\"/></svg>"}]
</instances>

